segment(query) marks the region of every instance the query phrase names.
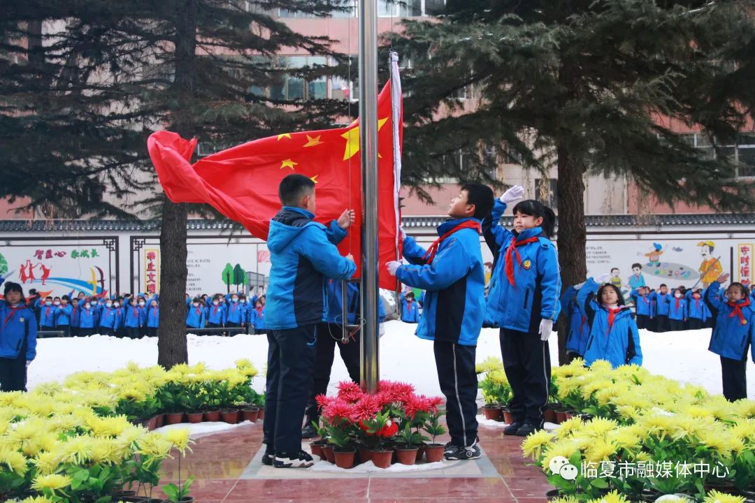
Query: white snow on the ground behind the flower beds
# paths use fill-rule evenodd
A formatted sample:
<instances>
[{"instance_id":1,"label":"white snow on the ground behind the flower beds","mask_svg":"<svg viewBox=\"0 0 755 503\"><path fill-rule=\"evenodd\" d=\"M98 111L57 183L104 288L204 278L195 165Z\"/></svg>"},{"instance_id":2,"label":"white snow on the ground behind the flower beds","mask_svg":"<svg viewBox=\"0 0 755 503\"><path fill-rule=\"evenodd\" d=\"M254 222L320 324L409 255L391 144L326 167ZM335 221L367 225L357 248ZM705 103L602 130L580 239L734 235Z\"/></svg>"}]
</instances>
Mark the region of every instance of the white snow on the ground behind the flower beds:
<instances>
[{"instance_id":1,"label":"white snow on the ground behind the flower beds","mask_svg":"<svg viewBox=\"0 0 755 503\"><path fill-rule=\"evenodd\" d=\"M433 358L433 343L415 337L416 325L388 321L380 341L381 378L411 382L419 393L439 395L440 388ZM652 333L640 330L643 366L652 373L682 382L702 385L711 393L721 393L719 357L707 351L710 329ZM260 370L254 388L263 391L262 371L267 361L265 336L188 336L189 362L204 361L212 369L233 367L239 358L248 358ZM558 361L556 333L550 342L552 361ZM477 361L501 357L498 330L483 329L477 345ZM749 360L749 355L748 355ZM141 366L157 362L157 339L117 339L108 336L39 339L37 357L29 366L29 388L42 382L61 381L79 370L111 371L129 361ZM336 356L329 393L337 382L348 379L346 367ZM747 394L755 398L755 365L747 363Z\"/></svg>"}]
</instances>

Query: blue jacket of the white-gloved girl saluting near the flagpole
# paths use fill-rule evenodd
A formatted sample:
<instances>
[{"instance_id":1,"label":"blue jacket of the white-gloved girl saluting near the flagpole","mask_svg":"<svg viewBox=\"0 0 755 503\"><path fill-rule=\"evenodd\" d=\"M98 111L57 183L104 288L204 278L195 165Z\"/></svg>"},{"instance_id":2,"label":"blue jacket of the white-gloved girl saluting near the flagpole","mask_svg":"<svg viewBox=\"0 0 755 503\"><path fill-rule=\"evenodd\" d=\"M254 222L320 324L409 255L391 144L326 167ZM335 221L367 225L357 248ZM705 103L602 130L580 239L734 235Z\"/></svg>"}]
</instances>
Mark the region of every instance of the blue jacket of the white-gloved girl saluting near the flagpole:
<instances>
[{"instance_id":1,"label":"blue jacket of the white-gloved girl saluting near the flagpole","mask_svg":"<svg viewBox=\"0 0 755 503\"><path fill-rule=\"evenodd\" d=\"M541 320L556 321L561 311L561 275L556 247L540 227L516 235L498 224L506 204L496 199L490 232L499 247L488 287L485 324L525 333L538 331ZM516 248L522 262L514 259L515 284L506 277L506 252L515 241L537 237L538 241Z\"/></svg>"}]
</instances>

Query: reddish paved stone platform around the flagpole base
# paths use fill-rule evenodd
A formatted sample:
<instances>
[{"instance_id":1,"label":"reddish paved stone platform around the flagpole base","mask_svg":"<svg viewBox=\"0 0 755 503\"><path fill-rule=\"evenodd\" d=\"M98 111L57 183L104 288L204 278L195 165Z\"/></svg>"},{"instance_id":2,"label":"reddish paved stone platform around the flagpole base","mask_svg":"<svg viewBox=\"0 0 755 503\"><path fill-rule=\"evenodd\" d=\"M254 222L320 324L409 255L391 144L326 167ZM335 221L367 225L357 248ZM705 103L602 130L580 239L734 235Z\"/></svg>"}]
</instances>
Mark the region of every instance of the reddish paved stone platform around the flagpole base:
<instances>
[{"instance_id":1,"label":"reddish paved stone platform around the flagpole base","mask_svg":"<svg viewBox=\"0 0 755 503\"><path fill-rule=\"evenodd\" d=\"M181 478L196 478L191 494L197 503L547 502L545 492L553 487L522 457L521 438L483 426L479 437L484 452L479 460L446 462L442 469L424 472L333 474L263 467L257 422L197 439L193 452L181 459ZM162 483L175 482L178 460L166 460L162 474Z\"/></svg>"}]
</instances>

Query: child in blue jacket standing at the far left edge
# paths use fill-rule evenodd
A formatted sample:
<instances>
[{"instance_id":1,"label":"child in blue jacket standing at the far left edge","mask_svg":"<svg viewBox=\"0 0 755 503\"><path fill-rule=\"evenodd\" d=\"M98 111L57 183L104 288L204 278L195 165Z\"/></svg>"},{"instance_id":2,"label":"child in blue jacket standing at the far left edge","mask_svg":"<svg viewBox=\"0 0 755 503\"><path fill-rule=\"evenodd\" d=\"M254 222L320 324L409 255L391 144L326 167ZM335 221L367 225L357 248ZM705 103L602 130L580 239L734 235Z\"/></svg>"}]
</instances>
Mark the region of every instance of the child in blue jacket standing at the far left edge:
<instances>
[{"instance_id":1,"label":"child in blue jacket standing at the far left edge","mask_svg":"<svg viewBox=\"0 0 755 503\"><path fill-rule=\"evenodd\" d=\"M0 278L0 283L4 278ZM37 325L20 284L6 283L0 301L0 391L26 391L26 368L37 354Z\"/></svg>"}]
</instances>

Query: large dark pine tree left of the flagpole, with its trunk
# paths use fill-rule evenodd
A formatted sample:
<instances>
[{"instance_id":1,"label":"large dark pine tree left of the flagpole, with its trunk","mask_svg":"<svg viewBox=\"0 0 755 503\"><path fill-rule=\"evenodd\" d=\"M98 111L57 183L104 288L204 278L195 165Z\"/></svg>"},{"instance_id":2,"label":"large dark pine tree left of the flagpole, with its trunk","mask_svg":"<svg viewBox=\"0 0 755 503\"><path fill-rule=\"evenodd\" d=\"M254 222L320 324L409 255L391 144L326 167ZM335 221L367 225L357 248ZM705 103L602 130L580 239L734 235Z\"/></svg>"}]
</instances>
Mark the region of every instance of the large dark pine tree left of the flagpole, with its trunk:
<instances>
[{"instance_id":1,"label":"large dark pine tree left of the flagpole, with its trunk","mask_svg":"<svg viewBox=\"0 0 755 503\"><path fill-rule=\"evenodd\" d=\"M294 127L328 127L342 111L327 100L260 93L291 72L272 63L282 48L337 57L327 38L297 34L273 19L270 11L277 8L325 15L333 5L15 0L0 8L0 167L8 173L0 197L28 197L32 207L76 205L71 216L145 216L149 210L162 217L158 363L164 367L187 361L190 207L172 204L162 192L135 200L156 186L146 137L166 127L233 145ZM303 78L340 71L294 70ZM123 201L128 197L131 207Z\"/></svg>"}]
</instances>

